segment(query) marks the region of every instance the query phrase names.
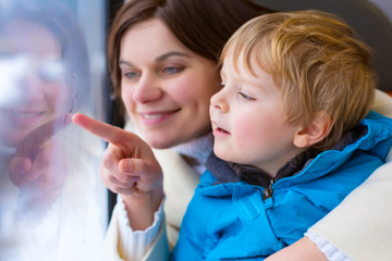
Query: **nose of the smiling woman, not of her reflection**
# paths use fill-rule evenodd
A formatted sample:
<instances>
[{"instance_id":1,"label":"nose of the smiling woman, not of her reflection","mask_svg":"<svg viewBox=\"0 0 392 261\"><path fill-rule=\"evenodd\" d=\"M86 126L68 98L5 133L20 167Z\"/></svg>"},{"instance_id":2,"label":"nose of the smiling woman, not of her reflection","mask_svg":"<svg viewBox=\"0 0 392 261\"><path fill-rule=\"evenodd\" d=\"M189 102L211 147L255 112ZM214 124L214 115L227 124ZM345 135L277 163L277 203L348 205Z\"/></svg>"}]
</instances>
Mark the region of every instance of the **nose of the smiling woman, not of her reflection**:
<instances>
[{"instance_id":1,"label":"nose of the smiling woman, not of her reflection","mask_svg":"<svg viewBox=\"0 0 392 261\"><path fill-rule=\"evenodd\" d=\"M161 82L152 75L144 75L135 86L133 99L137 103L159 100L162 95Z\"/></svg>"}]
</instances>

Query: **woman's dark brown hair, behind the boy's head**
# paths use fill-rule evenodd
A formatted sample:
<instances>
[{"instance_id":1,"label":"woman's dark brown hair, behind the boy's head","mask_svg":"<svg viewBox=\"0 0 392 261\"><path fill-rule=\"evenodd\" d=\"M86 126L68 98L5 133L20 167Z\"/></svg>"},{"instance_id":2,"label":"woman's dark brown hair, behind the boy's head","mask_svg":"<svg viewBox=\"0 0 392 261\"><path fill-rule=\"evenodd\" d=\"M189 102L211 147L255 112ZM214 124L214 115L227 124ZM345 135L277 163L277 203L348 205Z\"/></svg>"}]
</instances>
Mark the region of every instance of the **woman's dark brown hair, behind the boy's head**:
<instances>
[{"instance_id":1,"label":"woman's dark brown hair, behind the boy's head","mask_svg":"<svg viewBox=\"0 0 392 261\"><path fill-rule=\"evenodd\" d=\"M108 39L108 70L120 94L120 44L132 26L161 20L193 52L218 62L230 36L245 22L271 10L250 0L130 0L117 13Z\"/></svg>"}]
</instances>

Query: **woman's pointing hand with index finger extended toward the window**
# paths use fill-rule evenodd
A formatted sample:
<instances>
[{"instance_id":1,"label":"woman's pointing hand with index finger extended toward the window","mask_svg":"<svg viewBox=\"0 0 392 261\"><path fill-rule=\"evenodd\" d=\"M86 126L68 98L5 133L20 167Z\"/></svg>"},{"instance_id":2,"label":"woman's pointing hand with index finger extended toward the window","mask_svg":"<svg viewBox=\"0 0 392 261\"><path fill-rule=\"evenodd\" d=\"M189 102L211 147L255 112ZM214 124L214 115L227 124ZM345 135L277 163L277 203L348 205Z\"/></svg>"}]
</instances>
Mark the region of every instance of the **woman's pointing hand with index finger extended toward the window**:
<instances>
[{"instance_id":1,"label":"woman's pointing hand with index finger extended toward the window","mask_svg":"<svg viewBox=\"0 0 392 261\"><path fill-rule=\"evenodd\" d=\"M163 198L163 173L151 148L137 135L76 113L74 123L108 141L100 165L103 184L121 194L131 227L145 229Z\"/></svg>"}]
</instances>

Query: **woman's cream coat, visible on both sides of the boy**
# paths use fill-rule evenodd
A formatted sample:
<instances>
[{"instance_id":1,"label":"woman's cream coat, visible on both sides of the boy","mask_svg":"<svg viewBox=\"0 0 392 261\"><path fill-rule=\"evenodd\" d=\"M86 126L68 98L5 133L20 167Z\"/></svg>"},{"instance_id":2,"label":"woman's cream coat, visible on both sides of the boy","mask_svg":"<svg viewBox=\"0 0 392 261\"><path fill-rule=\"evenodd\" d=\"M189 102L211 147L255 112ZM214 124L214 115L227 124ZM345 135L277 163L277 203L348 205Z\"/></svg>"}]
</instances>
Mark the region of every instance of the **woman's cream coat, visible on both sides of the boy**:
<instances>
[{"instance_id":1,"label":"woman's cream coat, visible on both sides of the boy","mask_svg":"<svg viewBox=\"0 0 392 261\"><path fill-rule=\"evenodd\" d=\"M372 110L392 117L392 99L377 91ZM169 260L199 174L172 150L156 151L163 169L166 222L143 261ZM390 161L392 153L390 152ZM392 162L379 167L331 213L310 229L328 239L352 260L392 260ZM105 259L122 261L118 252L119 225L114 208L107 232ZM385 229L388 228L388 229Z\"/></svg>"}]
</instances>

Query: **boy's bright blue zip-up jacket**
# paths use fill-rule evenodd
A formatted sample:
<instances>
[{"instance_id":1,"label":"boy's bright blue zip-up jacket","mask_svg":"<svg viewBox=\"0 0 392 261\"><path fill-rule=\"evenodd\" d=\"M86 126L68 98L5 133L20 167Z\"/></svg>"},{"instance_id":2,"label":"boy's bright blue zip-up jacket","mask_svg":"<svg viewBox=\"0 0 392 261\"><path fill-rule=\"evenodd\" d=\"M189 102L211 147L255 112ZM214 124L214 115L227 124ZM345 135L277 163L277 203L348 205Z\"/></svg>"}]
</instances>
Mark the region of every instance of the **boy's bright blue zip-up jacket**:
<instances>
[{"instance_id":1,"label":"boy's bright blue zip-up jacket","mask_svg":"<svg viewBox=\"0 0 392 261\"><path fill-rule=\"evenodd\" d=\"M370 112L359 126L367 130L356 141L319 153L269 188L244 181L219 183L206 171L171 260L264 260L302 238L384 163L392 120ZM272 196L266 198L268 189Z\"/></svg>"}]
</instances>

